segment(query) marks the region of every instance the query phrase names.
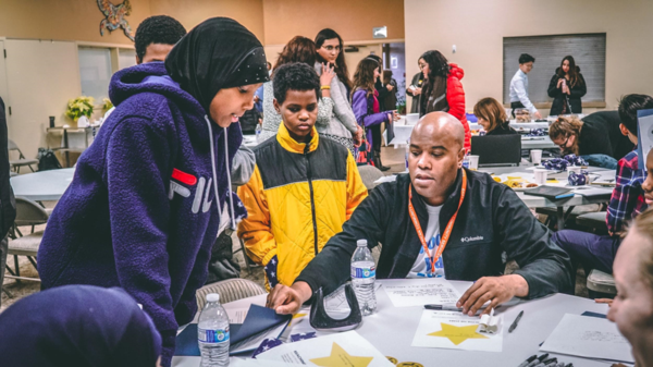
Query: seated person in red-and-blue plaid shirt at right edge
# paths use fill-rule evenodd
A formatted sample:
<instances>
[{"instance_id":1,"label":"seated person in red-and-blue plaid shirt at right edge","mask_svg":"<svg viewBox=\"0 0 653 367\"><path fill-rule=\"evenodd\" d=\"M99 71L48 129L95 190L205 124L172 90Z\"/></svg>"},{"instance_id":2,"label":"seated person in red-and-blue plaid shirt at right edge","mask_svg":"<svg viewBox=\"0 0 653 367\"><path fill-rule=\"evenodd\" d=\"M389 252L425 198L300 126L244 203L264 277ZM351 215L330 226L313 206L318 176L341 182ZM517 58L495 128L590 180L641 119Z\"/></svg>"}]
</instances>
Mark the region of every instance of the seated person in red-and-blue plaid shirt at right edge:
<instances>
[{"instance_id":1,"label":"seated person in red-and-blue plaid shirt at right edge","mask_svg":"<svg viewBox=\"0 0 653 367\"><path fill-rule=\"evenodd\" d=\"M619 102L621 133L637 144L637 111L653 109L653 98L646 95L628 95ZM591 269L612 273L613 261L621 244L621 233L632 218L646 210L642 183L646 172L638 168L637 149L632 150L618 162L616 186L607 207L606 224L608 234L597 235L574 230L558 231L553 241L569 254L574 264L580 262L586 274Z\"/></svg>"}]
</instances>

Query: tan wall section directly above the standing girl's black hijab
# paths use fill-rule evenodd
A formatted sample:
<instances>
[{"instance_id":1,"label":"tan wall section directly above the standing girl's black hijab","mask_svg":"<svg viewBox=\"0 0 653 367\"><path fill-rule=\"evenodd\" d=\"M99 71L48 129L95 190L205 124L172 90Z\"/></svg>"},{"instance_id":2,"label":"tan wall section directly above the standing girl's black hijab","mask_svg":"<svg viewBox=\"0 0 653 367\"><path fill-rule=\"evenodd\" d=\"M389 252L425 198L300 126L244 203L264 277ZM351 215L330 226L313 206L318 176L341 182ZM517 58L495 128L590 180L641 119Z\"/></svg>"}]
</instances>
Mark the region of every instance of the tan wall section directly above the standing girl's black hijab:
<instances>
[{"instance_id":1,"label":"tan wall section directly above the standing girl's black hijab","mask_svg":"<svg viewBox=\"0 0 653 367\"><path fill-rule=\"evenodd\" d=\"M209 17L232 17L264 42L263 0L151 0L150 11L175 17L186 30Z\"/></svg>"}]
</instances>

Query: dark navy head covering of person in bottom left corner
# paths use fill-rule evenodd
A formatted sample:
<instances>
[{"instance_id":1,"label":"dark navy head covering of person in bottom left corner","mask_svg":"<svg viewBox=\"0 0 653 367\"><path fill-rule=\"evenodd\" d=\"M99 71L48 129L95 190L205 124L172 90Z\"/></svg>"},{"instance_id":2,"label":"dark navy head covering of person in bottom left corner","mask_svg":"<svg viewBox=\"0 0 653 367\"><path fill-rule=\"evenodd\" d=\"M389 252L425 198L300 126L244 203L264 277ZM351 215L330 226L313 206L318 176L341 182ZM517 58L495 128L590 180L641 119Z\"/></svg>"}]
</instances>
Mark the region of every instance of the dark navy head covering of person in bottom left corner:
<instances>
[{"instance_id":1,"label":"dark navy head covering of person in bottom left corner","mask_svg":"<svg viewBox=\"0 0 653 367\"><path fill-rule=\"evenodd\" d=\"M0 314L0 365L155 367L161 337L122 289L65 285Z\"/></svg>"}]
</instances>

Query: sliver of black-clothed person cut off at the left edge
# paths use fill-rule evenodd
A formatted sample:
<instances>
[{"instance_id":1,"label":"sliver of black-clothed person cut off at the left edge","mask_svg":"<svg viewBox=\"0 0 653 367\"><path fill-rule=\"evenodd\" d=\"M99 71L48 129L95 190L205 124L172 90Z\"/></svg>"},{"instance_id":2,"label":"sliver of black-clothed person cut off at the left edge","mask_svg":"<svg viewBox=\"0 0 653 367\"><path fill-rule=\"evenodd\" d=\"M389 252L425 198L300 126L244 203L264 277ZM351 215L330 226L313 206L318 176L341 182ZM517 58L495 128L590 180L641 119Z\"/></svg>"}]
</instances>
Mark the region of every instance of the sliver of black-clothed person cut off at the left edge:
<instances>
[{"instance_id":1,"label":"sliver of black-clothed person cut off at the left edge","mask_svg":"<svg viewBox=\"0 0 653 367\"><path fill-rule=\"evenodd\" d=\"M4 281L4 267L7 266L8 240L7 233L16 218L16 201L9 182L9 151L7 150L7 118L4 115L4 101L0 97L0 286ZM0 304L2 299L0 298Z\"/></svg>"}]
</instances>

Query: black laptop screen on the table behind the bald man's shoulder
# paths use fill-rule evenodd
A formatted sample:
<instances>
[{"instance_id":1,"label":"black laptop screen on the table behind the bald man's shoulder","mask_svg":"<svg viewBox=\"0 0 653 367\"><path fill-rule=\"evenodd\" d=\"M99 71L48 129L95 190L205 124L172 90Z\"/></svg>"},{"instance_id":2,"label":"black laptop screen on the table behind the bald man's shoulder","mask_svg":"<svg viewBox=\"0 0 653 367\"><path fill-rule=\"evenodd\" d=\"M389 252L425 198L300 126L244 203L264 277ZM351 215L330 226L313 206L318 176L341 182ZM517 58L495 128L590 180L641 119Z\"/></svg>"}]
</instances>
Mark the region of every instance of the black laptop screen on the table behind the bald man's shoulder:
<instances>
[{"instance_id":1,"label":"black laptop screen on the table behind the bald man's shoulder","mask_svg":"<svg viewBox=\"0 0 653 367\"><path fill-rule=\"evenodd\" d=\"M519 166L521 135L472 136L471 154L479 156L479 167Z\"/></svg>"}]
</instances>

